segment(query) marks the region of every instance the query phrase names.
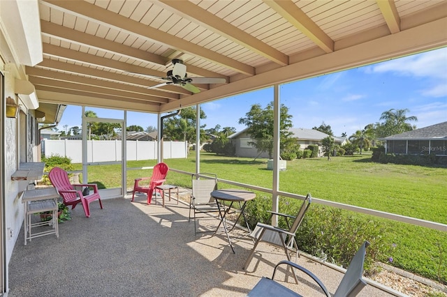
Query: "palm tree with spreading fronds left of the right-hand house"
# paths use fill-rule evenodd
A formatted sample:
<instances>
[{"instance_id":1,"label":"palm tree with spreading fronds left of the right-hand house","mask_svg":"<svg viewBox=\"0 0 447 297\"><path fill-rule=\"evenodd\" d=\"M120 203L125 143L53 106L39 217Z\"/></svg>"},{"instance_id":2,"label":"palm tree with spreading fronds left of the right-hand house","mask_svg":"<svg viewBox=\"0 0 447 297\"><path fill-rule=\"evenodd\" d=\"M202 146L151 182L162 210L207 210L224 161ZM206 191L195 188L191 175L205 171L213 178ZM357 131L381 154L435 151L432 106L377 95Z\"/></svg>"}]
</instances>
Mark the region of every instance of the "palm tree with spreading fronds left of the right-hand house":
<instances>
[{"instance_id":1,"label":"palm tree with spreading fronds left of the right-hand house","mask_svg":"<svg viewBox=\"0 0 447 297\"><path fill-rule=\"evenodd\" d=\"M409 109L390 109L383 112L380 119L385 120L385 123L381 123L381 137L387 137L390 135L400 134L406 131L411 131L416 126L408 123L409 121L418 121L416 116L406 116L406 113L410 112Z\"/></svg>"}]
</instances>

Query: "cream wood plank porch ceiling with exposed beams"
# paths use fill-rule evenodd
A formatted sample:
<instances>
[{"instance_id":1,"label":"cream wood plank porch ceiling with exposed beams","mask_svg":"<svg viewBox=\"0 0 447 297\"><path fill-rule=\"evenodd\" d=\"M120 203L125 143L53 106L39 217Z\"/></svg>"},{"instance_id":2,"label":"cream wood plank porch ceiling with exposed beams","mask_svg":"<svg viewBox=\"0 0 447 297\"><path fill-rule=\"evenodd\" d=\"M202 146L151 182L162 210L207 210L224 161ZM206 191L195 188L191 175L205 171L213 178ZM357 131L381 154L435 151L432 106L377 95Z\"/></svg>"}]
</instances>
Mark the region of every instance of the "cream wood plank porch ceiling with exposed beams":
<instances>
[{"instance_id":1,"label":"cream wood plank porch ceiling with exposed beams","mask_svg":"<svg viewBox=\"0 0 447 297\"><path fill-rule=\"evenodd\" d=\"M41 102L170 112L447 45L442 0L40 1ZM182 59L225 84L153 89ZM154 77L155 76L155 77Z\"/></svg>"}]
</instances>

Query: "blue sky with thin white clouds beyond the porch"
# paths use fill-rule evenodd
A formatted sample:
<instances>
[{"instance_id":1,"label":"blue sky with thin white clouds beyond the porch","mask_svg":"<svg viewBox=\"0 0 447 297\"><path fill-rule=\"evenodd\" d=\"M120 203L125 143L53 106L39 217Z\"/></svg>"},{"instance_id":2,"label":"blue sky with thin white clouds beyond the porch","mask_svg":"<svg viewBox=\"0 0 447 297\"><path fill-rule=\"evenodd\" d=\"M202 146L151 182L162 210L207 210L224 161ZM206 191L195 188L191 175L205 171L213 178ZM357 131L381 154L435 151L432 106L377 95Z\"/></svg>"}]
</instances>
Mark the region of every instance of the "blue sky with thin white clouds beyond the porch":
<instances>
[{"instance_id":1,"label":"blue sky with thin white clouds beyond the porch","mask_svg":"<svg viewBox=\"0 0 447 297\"><path fill-rule=\"evenodd\" d=\"M336 136L351 135L369 123L379 122L382 112L409 109L417 128L447 121L447 48L376 63L339 73L280 86L280 101L293 116L294 128L330 125ZM273 88L208 102L200 107L207 115L205 128L245 128L239 119L256 103L262 107L273 100ZM93 110L99 117L122 119L123 112ZM68 106L59 130L81 126L81 108ZM127 125L156 126L156 115L128 112Z\"/></svg>"}]
</instances>

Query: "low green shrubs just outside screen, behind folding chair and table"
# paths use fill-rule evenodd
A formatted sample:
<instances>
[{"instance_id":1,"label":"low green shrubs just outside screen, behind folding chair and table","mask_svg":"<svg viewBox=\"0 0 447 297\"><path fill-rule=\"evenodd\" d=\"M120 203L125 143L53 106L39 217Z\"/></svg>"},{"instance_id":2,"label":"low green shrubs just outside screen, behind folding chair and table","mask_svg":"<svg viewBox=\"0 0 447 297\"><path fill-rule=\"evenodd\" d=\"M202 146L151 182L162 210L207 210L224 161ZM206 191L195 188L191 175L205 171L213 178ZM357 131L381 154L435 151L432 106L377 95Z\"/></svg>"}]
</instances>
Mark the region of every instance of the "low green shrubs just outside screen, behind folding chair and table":
<instances>
[{"instance_id":1,"label":"low green shrubs just outside screen, behind folding chair and table","mask_svg":"<svg viewBox=\"0 0 447 297\"><path fill-rule=\"evenodd\" d=\"M302 201L283 198L279 200L279 212L294 215L298 213ZM272 199L257 197L249 201L245 213L250 228L257 222L269 222ZM279 220L279 227L288 229L284 220ZM298 228L296 239L298 248L303 252L337 264L344 268L349 266L351 259L364 241L371 245L367 249L365 270L374 273L377 261L386 261L391 245L386 243L381 234L386 234L385 227L379 222L367 217L351 215L327 206L311 204L305 219Z\"/></svg>"}]
</instances>

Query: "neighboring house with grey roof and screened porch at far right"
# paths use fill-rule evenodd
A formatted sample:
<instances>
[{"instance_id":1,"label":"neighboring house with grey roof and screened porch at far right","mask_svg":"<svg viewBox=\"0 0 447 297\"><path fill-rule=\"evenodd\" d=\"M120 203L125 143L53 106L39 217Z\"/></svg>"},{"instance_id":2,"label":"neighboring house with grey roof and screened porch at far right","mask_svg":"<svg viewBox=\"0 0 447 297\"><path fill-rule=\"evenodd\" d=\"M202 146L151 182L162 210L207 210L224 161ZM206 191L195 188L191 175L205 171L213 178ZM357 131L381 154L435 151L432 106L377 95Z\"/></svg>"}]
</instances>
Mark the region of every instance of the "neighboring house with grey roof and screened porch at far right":
<instances>
[{"instance_id":1,"label":"neighboring house with grey roof and screened porch at far right","mask_svg":"<svg viewBox=\"0 0 447 297\"><path fill-rule=\"evenodd\" d=\"M386 153L404 155L447 155L447 122L379 138Z\"/></svg>"}]
</instances>

